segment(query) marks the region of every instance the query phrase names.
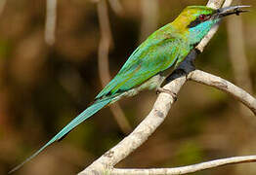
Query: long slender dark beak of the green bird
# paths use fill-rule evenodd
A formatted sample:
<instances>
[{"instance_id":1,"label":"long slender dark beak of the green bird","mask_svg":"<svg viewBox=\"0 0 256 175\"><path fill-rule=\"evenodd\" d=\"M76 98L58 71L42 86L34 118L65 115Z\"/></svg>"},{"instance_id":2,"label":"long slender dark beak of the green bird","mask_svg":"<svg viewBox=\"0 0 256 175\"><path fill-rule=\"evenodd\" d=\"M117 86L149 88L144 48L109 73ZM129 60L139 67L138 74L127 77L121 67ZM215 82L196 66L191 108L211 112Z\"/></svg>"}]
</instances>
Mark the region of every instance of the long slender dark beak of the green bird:
<instances>
[{"instance_id":1,"label":"long slender dark beak of the green bird","mask_svg":"<svg viewBox=\"0 0 256 175\"><path fill-rule=\"evenodd\" d=\"M240 6L225 7L225 8L218 9L215 15L216 15L216 18L223 18L226 16L234 15L234 14L236 16L239 16L240 13L249 12L248 10L242 9L242 8L248 8L248 7L251 7L251 6L240 5Z\"/></svg>"}]
</instances>

